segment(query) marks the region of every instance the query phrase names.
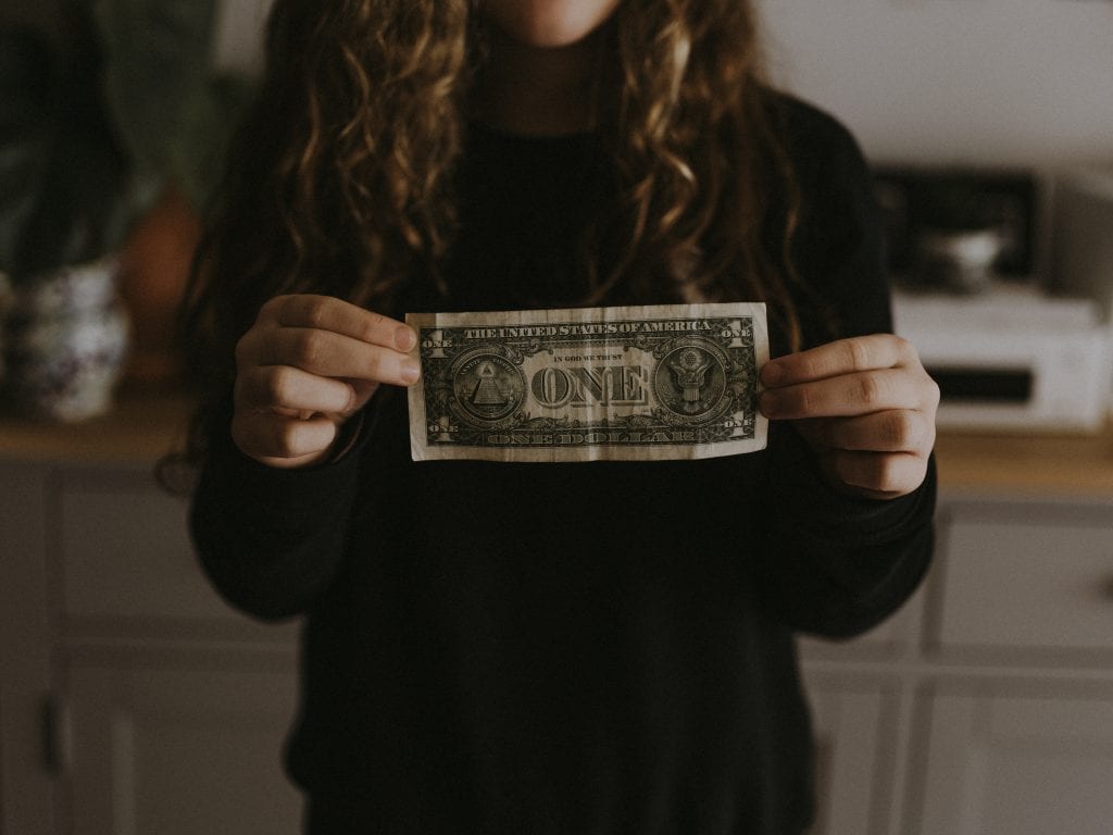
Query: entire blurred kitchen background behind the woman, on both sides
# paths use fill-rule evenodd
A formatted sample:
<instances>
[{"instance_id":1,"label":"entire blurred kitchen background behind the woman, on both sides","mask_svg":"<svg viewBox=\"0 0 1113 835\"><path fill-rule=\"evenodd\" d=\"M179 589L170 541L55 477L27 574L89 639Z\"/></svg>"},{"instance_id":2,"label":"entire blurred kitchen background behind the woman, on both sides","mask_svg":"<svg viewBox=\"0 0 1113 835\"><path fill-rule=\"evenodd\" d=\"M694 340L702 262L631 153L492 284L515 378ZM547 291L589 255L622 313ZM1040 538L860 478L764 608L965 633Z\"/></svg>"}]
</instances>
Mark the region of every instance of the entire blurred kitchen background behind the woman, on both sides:
<instances>
[{"instance_id":1,"label":"entire blurred kitchen background behind the woman, on both sides","mask_svg":"<svg viewBox=\"0 0 1113 835\"><path fill-rule=\"evenodd\" d=\"M801 641L824 835L1113 819L1113 2L759 0L875 171L938 557ZM297 623L206 586L174 311L268 0L0 0L0 835L295 833ZM177 488L168 490L169 488Z\"/></svg>"}]
</instances>

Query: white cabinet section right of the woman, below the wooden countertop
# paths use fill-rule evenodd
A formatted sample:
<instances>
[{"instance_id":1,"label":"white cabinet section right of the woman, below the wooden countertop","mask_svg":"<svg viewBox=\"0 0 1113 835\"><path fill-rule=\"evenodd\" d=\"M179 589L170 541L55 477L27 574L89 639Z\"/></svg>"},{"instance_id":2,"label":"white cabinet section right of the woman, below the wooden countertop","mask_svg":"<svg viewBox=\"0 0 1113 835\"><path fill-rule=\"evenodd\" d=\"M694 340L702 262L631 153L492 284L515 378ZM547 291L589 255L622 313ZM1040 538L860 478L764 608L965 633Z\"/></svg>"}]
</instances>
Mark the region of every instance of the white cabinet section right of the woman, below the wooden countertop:
<instances>
[{"instance_id":1,"label":"white cabinet section right of the woman, below the wooden countertop","mask_svg":"<svg viewBox=\"0 0 1113 835\"><path fill-rule=\"evenodd\" d=\"M802 657L816 835L1113 832L1113 501L944 501L920 592Z\"/></svg>"}]
</instances>

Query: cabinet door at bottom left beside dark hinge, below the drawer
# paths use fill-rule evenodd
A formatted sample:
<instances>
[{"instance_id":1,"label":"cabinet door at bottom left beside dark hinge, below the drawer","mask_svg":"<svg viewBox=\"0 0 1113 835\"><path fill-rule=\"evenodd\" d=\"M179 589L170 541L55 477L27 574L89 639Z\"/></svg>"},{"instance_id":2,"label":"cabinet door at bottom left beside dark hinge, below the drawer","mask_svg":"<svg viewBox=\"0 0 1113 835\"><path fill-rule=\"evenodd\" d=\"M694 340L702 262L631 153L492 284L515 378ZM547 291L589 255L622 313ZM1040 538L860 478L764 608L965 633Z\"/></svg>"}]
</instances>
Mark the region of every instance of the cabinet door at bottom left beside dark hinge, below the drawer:
<instances>
[{"instance_id":1,"label":"cabinet door at bottom left beside dark hinge, below the drawer","mask_svg":"<svg viewBox=\"0 0 1113 835\"><path fill-rule=\"evenodd\" d=\"M289 671L72 665L72 835L294 835Z\"/></svg>"}]
</instances>

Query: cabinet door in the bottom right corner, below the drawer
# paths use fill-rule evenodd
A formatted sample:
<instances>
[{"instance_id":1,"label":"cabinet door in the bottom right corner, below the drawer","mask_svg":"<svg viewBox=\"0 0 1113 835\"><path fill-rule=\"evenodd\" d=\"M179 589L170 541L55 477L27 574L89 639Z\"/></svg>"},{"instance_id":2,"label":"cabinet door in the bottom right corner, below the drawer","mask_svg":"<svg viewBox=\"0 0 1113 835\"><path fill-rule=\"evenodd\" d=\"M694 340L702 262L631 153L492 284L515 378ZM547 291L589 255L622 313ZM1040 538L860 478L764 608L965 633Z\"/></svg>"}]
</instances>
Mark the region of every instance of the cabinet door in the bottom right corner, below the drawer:
<instances>
[{"instance_id":1,"label":"cabinet door in the bottom right corner, below the drawer","mask_svg":"<svg viewBox=\"0 0 1113 835\"><path fill-rule=\"evenodd\" d=\"M944 685L925 698L920 821L904 832L1109 835L1113 688Z\"/></svg>"}]
</instances>

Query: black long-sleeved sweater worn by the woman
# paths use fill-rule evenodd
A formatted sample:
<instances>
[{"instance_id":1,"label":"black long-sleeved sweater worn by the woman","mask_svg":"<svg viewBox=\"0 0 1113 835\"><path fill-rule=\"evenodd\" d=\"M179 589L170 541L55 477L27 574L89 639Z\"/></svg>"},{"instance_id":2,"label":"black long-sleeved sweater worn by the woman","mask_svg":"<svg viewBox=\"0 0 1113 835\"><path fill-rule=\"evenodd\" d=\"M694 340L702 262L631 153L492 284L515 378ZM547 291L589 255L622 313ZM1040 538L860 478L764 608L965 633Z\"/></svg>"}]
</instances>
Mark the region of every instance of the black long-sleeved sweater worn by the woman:
<instances>
[{"instance_id":1,"label":"black long-sleeved sweater worn by the woman","mask_svg":"<svg viewBox=\"0 0 1113 835\"><path fill-rule=\"evenodd\" d=\"M844 335L886 331L861 155L785 109L801 304ZM565 303L590 145L476 129L467 166L444 306ZM787 425L700 462L415 464L404 392L384 389L336 463L276 471L213 444L201 561L243 610L307 615L287 766L353 833L799 833L794 633L876 625L930 559L934 472L897 501L848 499Z\"/></svg>"}]
</instances>

